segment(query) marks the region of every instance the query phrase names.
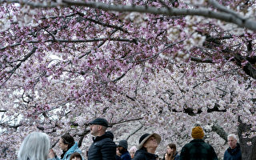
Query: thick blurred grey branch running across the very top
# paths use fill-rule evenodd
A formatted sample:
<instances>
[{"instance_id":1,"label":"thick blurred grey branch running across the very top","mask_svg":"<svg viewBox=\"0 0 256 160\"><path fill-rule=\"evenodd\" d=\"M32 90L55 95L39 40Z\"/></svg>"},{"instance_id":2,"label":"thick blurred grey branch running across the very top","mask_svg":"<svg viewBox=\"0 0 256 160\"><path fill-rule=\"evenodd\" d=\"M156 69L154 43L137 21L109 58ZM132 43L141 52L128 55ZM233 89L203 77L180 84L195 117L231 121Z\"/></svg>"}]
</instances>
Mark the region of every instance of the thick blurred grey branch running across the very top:
<instances>
[{"instance_id":1,"label":"thick blurred grey branch running across the very top","mask_svg":"<svg viewBox=\"0 0 256 160\"><path fill-rule=\"evenodd\" d=\"M139 13L148 13L148 14L163 14L168 16L178 16L178 15L198 15L206 18L215 18L225 22L234 23L240 27L246 27L250 30L256 30L256 22L251 19L241 18L238 13L233 13L230 10L222 10L225 12L215 12L209 9L178 9L178 8L158 8L153 6L123 6L123 5L110 5L102 2L78 2L71 0L63 0L62 3L50 2L49 4L40 3L40 2L27 2L19 0L1 0L3 2L17 2L26 4L32 7L38 8L50 8L57 6L87 6L90 8L106 10L106 11L118 11L118 12L139 12ZM214 4L214 2L212 2ZM217 6L217 5L214 5ZM218 9L221 7L218 6Z\"/></svg>"}]
</instances>

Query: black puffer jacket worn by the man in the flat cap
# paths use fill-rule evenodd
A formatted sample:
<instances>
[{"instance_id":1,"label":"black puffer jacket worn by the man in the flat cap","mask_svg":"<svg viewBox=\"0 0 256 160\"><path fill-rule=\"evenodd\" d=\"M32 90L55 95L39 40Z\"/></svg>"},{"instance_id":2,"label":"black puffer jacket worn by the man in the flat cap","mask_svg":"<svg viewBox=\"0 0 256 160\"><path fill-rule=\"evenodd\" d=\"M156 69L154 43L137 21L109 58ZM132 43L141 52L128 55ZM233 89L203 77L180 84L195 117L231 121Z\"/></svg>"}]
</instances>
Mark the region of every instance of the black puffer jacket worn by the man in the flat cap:
<instances>
[{"instance_id":1,"label":"black puffer jacket worn by the man in the flat cap","mask_svg":"<svg viewBox=\"0 0 256 160\"><path fill-rule=\"evenodd\" d=\"M113 139L114 135L110 131L93 138L94 142L88 150L88 160L115 160L116 145Z\"/></svg>"}]
</instances>

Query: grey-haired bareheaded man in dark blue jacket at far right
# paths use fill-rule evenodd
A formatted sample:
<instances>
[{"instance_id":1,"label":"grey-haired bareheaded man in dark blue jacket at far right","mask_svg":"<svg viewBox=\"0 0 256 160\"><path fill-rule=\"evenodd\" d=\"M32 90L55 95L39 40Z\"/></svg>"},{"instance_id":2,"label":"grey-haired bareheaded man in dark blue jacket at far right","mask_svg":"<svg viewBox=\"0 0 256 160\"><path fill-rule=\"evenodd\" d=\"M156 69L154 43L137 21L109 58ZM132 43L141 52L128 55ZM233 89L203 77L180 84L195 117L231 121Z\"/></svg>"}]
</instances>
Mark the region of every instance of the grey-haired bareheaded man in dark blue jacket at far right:
<instances>
[{"instance_id":1,"label":"grey-haired bareheaded man in dark blue jacket at far right","mask_svg":"<svg viewBox=\"0 0 256 160\"><path fill-rule=\"evenodd\" d=\"M223 160L242 160L242 152L235 134L227 136L229 148L224 153Z\"/></svg>"}]
</instances>

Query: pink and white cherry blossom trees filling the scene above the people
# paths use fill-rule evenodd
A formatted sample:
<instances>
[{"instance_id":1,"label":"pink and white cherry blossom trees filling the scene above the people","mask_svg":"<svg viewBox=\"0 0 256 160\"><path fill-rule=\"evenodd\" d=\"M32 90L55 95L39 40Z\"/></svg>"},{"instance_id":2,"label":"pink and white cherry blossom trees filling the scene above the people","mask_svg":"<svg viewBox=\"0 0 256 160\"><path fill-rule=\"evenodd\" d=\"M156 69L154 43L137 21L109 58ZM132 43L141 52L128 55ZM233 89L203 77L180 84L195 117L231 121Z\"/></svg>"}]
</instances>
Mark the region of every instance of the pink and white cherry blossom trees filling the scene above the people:
<instances>
[{"instance_id":1,"label":"pink and white cherry blossom trees filling the scene above the people","mask_svg":"<svg viewBox=\"0 0 256 160\"><path fill-rule=\"evenodd\" d=\"M255 158L254 3L0 0L0 158L33 130L85 154L96 117L115 141L161 134L160 155L199 123L219 158L230 133Z\"/></svg>"}]
</instances>

